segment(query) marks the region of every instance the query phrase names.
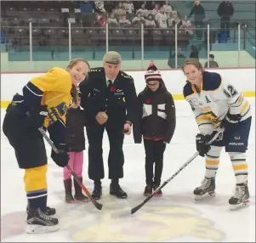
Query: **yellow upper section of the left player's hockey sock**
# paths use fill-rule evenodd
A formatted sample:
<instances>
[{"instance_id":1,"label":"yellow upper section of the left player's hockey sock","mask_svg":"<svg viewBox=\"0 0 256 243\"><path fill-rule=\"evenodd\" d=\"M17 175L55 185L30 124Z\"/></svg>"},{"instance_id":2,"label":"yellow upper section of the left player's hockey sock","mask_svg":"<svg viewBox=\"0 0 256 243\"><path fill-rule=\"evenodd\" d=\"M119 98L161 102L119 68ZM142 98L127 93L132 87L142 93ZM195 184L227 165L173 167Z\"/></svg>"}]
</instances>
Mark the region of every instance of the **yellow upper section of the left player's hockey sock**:
<instances>
[{"instance_id":1,"label":"yellow upper section of the left player's hockey sock","mask_svg":"<svg viewBox=\"0 0 256 243\"><path fill-rule=\"evenodd\" d=\"M26 191L34 191L47 188L46 173L48 165L34 167L25 170L24 183Z\"/></svg>"}]
</instances>

